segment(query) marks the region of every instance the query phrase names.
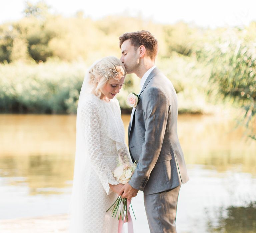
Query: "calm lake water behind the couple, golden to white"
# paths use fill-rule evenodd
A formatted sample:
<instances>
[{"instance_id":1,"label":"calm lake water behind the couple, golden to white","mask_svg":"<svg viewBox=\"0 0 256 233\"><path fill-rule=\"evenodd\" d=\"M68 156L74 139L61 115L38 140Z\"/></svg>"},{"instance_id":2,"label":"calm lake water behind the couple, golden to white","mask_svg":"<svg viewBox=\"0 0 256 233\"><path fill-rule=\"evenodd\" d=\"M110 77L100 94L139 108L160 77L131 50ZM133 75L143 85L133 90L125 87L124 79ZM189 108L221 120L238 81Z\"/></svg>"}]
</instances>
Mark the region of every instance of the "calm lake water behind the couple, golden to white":
<instances>
[{"instance_id":1,"label":"calm lake water behind the couple, golden to white","mask_svg":"<svg viewBox=\"0 0 256 233\"><path fill-rule=\"evenodd\" d=\"M130 116L122 118L127 131ZM0 219L68 213L75 120L0 115ZM190 176L179 195L178 232L256 232L256 141L230 116L181 115L178 134ZM135 233L149 232L143 193L132 203Z\"/></svg>"}]
</instances>

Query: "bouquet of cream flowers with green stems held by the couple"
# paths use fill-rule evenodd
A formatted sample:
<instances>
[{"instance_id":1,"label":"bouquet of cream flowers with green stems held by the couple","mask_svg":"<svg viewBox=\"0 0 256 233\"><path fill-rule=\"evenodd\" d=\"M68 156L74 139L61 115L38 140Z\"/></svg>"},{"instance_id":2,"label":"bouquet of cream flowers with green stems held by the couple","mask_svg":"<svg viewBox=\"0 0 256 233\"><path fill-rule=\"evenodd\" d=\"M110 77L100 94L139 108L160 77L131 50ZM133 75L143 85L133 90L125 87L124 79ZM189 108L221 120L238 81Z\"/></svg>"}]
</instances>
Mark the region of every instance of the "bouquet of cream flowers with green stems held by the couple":
<instances>
[{"instance_id":1,"label":"bouquet of cream flowers with green stems held by the couple","mask_svg":"<svg viewBox=\"0 0 256 233\"><path fill-rule=\"evenodd\" d=\"M136 169L136 166L137 166L136 161L131 165L128 165L126 163L121 164L116 167L116 169L113 172L113 175L119 183L126 184L131 179L134 173L134 170ZM130 209L129 204L130 204L130 200L128 200L128 203L127 203L127 198L122 198L121 196L119 196L115 200L115 202L109 207L107 212L111 209L112 217L115 218L118 213L118 219L122 218L122 220L124 220L126 218L126 221L128 222L128 215L129 215L129 209ZM132 208L132 204L130 205ZM132 212L133 212L133 209L132 209ZM135 217L134 212L133 212L133 215Z\"/></svg>"}]
</instances>

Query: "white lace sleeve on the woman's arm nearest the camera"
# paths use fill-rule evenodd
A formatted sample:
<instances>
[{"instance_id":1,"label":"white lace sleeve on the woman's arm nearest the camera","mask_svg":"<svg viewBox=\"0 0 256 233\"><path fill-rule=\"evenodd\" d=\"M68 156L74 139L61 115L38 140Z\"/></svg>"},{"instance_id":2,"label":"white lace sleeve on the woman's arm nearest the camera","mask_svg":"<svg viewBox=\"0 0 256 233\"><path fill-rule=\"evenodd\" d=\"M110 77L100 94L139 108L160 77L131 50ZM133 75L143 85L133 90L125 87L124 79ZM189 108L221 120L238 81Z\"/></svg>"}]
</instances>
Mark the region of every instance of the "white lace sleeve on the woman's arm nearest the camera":
<instances>
[{"instance_id":1,"label":"white lace sleeve on the woman's arm nearest the camera","mask_svg":"<svg viewBox=\"0 0 256 233\"><path fill-rule=\"evenodd\" d=\"M88 149L90 164L99 176L107 194L110 193L110 184L119 184L115 180L108 164L104 161L100 148L100 112L95 103L84 106L81 110L82 128L85 143Z\"/></svg>"}]
</instances>

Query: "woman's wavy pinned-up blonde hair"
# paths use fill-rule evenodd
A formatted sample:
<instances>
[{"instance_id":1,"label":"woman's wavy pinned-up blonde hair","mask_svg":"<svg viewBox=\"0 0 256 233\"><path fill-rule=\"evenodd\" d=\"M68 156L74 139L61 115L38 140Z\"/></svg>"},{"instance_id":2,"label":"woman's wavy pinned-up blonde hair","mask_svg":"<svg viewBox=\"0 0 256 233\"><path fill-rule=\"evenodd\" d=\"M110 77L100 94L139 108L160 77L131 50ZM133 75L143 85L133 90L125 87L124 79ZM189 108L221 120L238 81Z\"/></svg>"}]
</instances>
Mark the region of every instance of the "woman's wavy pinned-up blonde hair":
<instances>
[{"instance_id":1,"label":"woman's wavy pinned-up blonde hair","mask_svg":"<svg viewBox=\"0 0 256 233\"><path fill-rule=\"evenodd\" d=\"M126 75L123 63L116 57L109 56L95 62L88 71L88 85L92 87L92 93L99 98L102 95L100 89L108 82L109 78L111 78L102 73L102 68L104 68L104 70L116 70L118 75L115 77L118 78Z\"/></svg>"}]
</instances>

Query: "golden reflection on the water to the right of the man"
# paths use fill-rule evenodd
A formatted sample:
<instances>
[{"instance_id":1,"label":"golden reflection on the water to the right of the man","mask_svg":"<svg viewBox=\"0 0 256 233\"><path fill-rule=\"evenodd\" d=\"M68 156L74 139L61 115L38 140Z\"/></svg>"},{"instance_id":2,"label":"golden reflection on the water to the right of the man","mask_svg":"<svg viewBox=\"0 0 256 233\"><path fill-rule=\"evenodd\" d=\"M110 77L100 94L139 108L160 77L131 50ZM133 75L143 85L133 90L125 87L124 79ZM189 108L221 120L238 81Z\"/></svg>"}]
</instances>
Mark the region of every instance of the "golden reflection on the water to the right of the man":
<instances>
[{"instance_id":1,"label":"golden reflection on the water to the right of the man","mask_svg":"<svg viewBox=\"0 0 256 233\"><path fill-rule=\"evenodd\" d=\"M256 141L235 128L232 116L179 116L178 134L186 162L207 169L249 172L256 175Z\"/></svg>"}]
</instances>

